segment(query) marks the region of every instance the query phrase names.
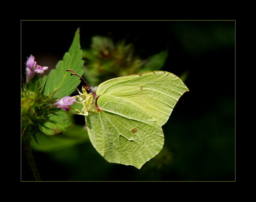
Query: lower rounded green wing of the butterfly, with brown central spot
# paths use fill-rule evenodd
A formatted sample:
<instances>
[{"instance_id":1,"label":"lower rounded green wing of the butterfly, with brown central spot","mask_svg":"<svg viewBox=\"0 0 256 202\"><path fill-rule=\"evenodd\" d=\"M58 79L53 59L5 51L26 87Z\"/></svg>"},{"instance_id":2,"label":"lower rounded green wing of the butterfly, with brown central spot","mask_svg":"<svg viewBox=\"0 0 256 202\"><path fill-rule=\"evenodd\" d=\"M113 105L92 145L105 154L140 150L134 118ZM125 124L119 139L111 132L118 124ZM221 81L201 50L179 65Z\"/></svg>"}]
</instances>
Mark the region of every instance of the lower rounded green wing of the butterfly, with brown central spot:
<instances>
[{"instance_id":1,"label":"lower rounded green wing of the butterfly, with brown central spot","mask_svg":"<svg viewBox=\"0 0 256 202\"><path fill-rule=\"evenodd\" d=\"M163 147L161 126L141 108L114 95L97 99L98 112L85 116L90 140L109 162L137 168L153 158Z\"/></svg>"}]
</instances>

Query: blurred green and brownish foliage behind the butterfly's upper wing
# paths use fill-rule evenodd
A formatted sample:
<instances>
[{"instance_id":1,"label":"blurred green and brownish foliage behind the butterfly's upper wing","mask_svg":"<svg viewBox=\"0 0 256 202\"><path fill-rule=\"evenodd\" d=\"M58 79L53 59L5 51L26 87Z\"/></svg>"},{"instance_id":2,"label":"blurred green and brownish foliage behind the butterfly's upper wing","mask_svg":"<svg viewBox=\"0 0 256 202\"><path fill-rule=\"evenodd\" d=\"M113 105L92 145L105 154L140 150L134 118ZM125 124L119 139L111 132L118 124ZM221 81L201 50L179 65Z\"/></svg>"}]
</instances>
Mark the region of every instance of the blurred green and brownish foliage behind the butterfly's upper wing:
<instances>
[{"instance_id":1,"label":"blurred green and brownish foliage behind the butterfly's upper wing","mask_svg":"<svg viewBox=\"0 0 256 202\"><path fill-rule=\"evenodd\" d=\"M90 85L98 86L109 79L156 71L163 67L167 56L168 49L142 60L125 40L114 44L109 37L93 36L91 49L83 50L84 78Z\"/></svg>"}]
</instances>

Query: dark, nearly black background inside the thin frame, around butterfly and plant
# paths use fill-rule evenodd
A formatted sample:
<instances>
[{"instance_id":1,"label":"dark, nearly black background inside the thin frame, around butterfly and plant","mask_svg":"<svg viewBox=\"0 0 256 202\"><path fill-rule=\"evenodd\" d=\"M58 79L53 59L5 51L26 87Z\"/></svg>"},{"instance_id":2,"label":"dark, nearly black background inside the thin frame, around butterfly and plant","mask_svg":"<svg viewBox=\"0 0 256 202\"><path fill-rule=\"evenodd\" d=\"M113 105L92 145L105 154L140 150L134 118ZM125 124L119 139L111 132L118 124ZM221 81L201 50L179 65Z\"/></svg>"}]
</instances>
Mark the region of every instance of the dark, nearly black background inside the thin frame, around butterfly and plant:
<instances>
[{"instance_id":1,"label":"dark, nearly black background inside the thin frame, around butterfly and plant","mask_svg":"<svg viewBox=\"0 0 256 202\"><path fill-rule=\"evenodd\" d=\"M95 35L126 39L143 59L168 46L161 70L186 72L189 92L163 126L163 150L140 170L108 163L87 138L68 149L34 152L42 180L235 181L235 21L21 21L21 76L30 54L55 68L78 27L82 49ZM34 180L23 149L21 180Z\"/></svg>"}]
</instances>

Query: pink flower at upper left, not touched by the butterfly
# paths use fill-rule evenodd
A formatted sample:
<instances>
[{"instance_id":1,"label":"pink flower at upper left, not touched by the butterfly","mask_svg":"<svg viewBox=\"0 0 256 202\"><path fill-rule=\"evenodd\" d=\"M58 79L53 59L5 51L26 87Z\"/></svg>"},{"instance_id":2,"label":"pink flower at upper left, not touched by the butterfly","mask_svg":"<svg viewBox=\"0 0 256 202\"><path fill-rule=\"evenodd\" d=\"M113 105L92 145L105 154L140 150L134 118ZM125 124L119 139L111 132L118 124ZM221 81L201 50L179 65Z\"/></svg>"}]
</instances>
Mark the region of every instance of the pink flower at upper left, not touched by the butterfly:
<instances>
[{"instance_id":1,"label":"pink flower at upper left, not touched by the butterfly","mask_svg":"<svg viewBox=\"0 0 256 202\"><path fill-rule=\"evenodd\" d=\"M36 73L43 74L45 70L48 70L48 67L42 67L36 64L35 57L30 55L27 60L27 83L35 76Z\"/></svg>"}]
</instances>

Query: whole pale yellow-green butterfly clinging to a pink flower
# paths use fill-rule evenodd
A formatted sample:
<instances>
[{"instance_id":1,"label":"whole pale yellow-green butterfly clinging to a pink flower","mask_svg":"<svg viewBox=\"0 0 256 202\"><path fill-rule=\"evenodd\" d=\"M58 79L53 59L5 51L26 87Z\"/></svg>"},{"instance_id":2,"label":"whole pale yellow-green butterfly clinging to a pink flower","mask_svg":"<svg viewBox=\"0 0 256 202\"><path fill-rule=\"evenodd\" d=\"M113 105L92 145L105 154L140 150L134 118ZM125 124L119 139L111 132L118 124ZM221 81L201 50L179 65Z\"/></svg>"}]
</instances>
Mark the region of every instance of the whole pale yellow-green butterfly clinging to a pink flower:
<instances>
[{"instance_id":1,"label":"whole pale yellow-green butterfly clinging to a pink flower","mask_svg":"<svg viewBox=\"0 0 256 202\"><path fill-rule=\"evenodd\" d=\"M85 116L92 145L107 161L137 168L161 151L161 126L180 96L189 91L180 78L166 71L110 79L98 88L84 82L83 94L78 91L75 96L84 107L75 110Z\"/></svg>"}]
</instances>

